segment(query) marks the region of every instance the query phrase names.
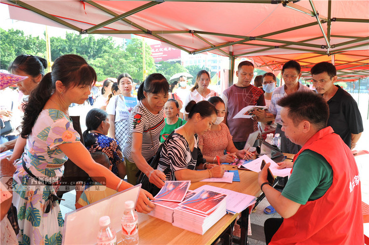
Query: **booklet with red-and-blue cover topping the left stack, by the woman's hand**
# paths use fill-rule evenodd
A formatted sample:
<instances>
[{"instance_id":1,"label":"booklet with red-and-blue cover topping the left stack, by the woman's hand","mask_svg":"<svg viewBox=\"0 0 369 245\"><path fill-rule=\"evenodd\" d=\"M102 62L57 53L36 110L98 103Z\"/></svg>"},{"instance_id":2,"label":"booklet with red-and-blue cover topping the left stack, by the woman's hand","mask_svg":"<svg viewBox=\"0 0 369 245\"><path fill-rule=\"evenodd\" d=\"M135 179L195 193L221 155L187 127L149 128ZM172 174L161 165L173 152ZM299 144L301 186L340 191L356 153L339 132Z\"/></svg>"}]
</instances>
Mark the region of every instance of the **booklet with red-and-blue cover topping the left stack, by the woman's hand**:
<instances>
[{"instance_id":1,"label":"booklet with red-and-blue cover topping the left stack, by the woman's hand","mask_svg":"<svg viewBox=\"0 0 369 245\"><path fill-rule=\"evenodd\" d=\"M186 181L165 181L164 186L154 197L157 200L182 202L191 182Z\"/></svg>"}]
</instances>

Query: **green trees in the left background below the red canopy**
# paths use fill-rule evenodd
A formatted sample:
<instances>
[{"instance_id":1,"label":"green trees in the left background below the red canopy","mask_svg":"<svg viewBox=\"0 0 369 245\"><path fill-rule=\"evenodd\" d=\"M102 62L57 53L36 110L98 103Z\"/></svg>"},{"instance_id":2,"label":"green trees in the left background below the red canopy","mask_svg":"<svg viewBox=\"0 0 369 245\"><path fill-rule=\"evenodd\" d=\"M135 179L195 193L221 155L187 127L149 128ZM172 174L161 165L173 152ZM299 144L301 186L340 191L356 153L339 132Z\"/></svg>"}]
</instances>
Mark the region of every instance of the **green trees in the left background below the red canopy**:
<instances>
[{"instance_id":1,"label":"green trees in the left background below the red canopy","mask_svg":"<svg viewBox=\"0 0 369 245\"><path fill-rule=\"evenodd\" d=\"M40 37L25 36L21 30L0 29L1 69L7 69L20 54L46 57L46 41ZM66 33L65 38L50 37L51 59L63 54L78 54L95 69L98 81L116 78L128 73L134 82L143 81L142 39L133 38L126 49L117 45L112 37L95 38L94 35ZM146 76L156 72L151 48L145 43Z\"/></svg>"}]
</instances>

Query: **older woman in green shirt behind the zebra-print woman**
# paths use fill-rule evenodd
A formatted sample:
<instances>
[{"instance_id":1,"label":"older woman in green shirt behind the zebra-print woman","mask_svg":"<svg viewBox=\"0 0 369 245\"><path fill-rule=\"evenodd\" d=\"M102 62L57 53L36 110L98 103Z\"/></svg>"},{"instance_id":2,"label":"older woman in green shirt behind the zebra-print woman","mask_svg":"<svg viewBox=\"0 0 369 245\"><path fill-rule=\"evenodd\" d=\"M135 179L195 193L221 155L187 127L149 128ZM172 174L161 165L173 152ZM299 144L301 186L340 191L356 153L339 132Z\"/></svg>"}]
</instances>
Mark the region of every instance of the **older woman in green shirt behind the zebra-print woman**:
<instances>
[{"instance_id":1,"label":"older woman in green shirt behind the zebra-print woman","mask_svg":"<svg viewBox=\"0 0 369 245\"><path fill-rule=\"evenodd\" d=\"M180 112L178 101L169 99L164 105L164 113L166 115L165 127L160 132L160 142L163 143L165 139L173 132L173 130L181 127L186 123L186 120L179 118Z\"/></svg>"}]
</instances>

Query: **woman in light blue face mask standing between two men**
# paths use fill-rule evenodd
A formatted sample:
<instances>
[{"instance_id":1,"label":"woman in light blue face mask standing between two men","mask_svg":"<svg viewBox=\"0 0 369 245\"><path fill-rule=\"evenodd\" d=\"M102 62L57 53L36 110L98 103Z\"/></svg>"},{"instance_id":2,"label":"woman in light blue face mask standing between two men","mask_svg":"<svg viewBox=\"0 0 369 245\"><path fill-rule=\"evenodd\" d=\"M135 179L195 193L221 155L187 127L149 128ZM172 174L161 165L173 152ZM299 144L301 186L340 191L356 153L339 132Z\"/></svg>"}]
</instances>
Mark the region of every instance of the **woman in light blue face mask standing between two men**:
<instances>
[{"instance_id":1,"label":"woman in light blue face mask standing between two men","mask_svg":"<svg viewBox=\"0 0 369 245\"><path fill-rule=\"evenodd\" d=\"M262 84L265 99L265 105L269 108L272 94L274 89L276 88L276 76L271 73L265 73L263 75ZM264 111L255 111L254 114L259 118L259 126L261 130L261 136L263 139L266 138L267 134L273 133L276 131L277 124L274 122L274 116L272 113L265 113L266 117L264 117Z\"/></svg>"}]
</instances>

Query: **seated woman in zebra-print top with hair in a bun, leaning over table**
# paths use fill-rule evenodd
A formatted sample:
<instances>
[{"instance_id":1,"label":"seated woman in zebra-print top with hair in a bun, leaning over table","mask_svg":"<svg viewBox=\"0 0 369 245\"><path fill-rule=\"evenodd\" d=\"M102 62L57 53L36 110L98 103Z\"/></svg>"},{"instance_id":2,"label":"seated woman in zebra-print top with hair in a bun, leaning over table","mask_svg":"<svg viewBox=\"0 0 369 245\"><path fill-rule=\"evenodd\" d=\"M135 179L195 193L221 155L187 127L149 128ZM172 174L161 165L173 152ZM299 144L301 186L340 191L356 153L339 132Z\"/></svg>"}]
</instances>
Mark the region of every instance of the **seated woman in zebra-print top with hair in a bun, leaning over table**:
<instances>
[{"instance_id":1,"label":"seated woman in zebra-print top with hair in a bun, leaning over table","mask_svg":"<svg viewBox=\"0 0 369 245\"><path fill-rule=\"evenodd\" d=\"M198 144L198 135L208 131L215 122L215 107L208 101L192 100L185 110L188 121L163 143L157 169L165 173L166 180L196 182L223 177L224 166L206 163Z\"/></svg>"}]
</instances>

